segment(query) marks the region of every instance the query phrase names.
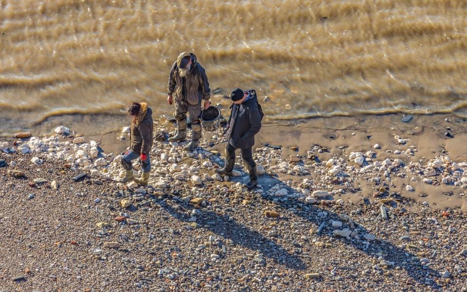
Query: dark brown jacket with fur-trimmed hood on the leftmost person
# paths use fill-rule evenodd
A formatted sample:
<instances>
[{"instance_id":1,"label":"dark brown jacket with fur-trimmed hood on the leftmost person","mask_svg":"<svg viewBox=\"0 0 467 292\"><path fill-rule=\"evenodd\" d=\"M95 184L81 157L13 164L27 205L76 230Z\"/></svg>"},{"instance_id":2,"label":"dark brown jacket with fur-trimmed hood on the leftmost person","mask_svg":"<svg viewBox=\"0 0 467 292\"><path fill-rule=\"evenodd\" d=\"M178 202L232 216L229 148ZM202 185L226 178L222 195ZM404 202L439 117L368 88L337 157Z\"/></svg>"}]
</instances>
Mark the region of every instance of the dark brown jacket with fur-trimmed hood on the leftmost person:
<instances>
[{"instance_id":1,"label":"dark brown jacket with fur-trimmed hood on the leftmost person","mask_svg":"<svg viewBox=\"0 0 467 292\"><path fill-rule=\"evenodd\" d=\"M152 110L141 102L141 110L133 118L130 129L130 149L136 153L149 155L152 147L154 122Z\"/></svg>"}]
</instances>

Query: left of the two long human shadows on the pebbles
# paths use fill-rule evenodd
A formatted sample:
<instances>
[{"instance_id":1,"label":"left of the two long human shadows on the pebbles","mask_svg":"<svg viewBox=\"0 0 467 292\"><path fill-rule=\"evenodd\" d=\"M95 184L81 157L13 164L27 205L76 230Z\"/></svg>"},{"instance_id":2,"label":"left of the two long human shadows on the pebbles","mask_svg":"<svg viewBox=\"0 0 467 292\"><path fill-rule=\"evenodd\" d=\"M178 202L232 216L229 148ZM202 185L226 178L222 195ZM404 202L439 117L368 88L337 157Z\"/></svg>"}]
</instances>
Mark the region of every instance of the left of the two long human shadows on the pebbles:
<instances>
[{"instance_id":1,"label":"left of the two long human shadows on the pebbles","mask_svg":"<svg viewBox=\"0 0 467 292\"><path fill-rule=\"evenodd\" d=\"M186 206L179 204L180 210L176 210L167 203L163 203L161 206L172 217L185 222L188 222L190 219L185 212L187 210L195 209L194 206L189 204ZM217 215L213 211L199 209L196 222L201 225L201 228L208 229L219 236L230 239L236 245L241 245L251 251L259 251L265 259L269 258L270 260L282 264L289 269L305 270L306 268L305 263L299 256L288 253L276 242L242 224L239 224L232 218L229 219L226 215ZM258 260L258 263L262 262ZM263 264L266 264L266 261Z\"/></svg>"}]
</instances>

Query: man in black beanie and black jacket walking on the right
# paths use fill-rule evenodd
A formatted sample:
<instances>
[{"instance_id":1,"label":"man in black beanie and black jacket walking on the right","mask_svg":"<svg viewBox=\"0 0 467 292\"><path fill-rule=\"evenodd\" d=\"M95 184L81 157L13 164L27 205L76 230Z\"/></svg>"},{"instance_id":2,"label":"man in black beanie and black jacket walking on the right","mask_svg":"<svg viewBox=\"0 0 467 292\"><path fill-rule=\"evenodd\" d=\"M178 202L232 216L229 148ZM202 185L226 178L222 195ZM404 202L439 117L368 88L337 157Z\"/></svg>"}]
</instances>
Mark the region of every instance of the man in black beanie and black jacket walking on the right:
<instances>
[{"instance_id":1,"label":"man in black beanie and black jacket walking on the right","mask_svg":"<svg viewBox=\"0 0 467 292\"><path fill-rule=\"evenodd\" d=\"M242 91L237 88L232 91L230 98L233 105L227 123L226 135L229 143L225 147L225 165L222 169L216 169L216 172L231 176L235 164L235 149L240 148L243 163L250 172L250 182L246 184L246 187L251 189L256 186L258 180L251 147L254 145L254 135L261 128L263 113L259 108L254 90Z\"/></svg>"}]
</instances>

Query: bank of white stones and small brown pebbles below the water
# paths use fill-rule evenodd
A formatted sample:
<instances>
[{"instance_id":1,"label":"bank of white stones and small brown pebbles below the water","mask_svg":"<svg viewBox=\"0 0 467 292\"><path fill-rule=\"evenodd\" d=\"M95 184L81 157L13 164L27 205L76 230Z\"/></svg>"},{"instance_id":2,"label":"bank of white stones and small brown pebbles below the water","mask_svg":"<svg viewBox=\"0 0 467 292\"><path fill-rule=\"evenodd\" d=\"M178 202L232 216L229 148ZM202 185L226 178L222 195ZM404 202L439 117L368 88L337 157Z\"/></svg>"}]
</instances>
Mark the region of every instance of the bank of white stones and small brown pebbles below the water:
<instances>
[{"instance_id":1,"label":"bank of white stones and small brown pebbles below the water","mask_svg":"<svg viewBox=\"0 0 467 292\"><path fill-rule=\"evenodd\" d=\"M388 191L392 178L433 172L425 183L465 187L466 163L379 162L371 150L320 162L319 145L306 157L270 146L254 151L265 185L248 192L241 164L222 178L207 141L187 153L167 136L156 129L146 187L113 182L119 155L82 137L2 143L2 289L466 291L466 215ZM225 142L220 131L213 141ZM374 183L374 203L333 199L359 180Z\"/></svg>"}]
</instances>

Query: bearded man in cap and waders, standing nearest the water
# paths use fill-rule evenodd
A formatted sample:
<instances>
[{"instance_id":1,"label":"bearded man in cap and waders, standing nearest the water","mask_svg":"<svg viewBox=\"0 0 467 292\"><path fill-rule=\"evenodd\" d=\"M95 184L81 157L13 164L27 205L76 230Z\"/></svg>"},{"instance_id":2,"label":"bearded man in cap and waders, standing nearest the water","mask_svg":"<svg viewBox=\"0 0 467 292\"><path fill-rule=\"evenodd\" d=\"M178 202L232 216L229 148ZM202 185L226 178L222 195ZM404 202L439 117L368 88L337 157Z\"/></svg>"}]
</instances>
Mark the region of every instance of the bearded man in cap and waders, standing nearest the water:
<instances>
[{"instance_id":1,"label":"bearded man in cap and waders, standing nearest the water","mask_svg":"<svg viewBox=\"0 0 467 292\"><path fill-rule=\"evenodd\" d=\"M188 112L193 133L190 143L183 149L193 151L201 139L201 100L204 100L204 108L207 109L211 98L208 77L204 68L197 62L195 54L183 52L177 57L170 69L167 90L167 102L169 105L175 104L174 117L177 121L177 133L170 137L169 141L176 142L186 138Z\"/></svg>"}]
</instances>

